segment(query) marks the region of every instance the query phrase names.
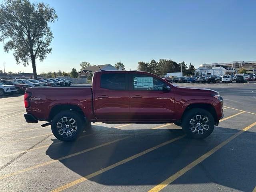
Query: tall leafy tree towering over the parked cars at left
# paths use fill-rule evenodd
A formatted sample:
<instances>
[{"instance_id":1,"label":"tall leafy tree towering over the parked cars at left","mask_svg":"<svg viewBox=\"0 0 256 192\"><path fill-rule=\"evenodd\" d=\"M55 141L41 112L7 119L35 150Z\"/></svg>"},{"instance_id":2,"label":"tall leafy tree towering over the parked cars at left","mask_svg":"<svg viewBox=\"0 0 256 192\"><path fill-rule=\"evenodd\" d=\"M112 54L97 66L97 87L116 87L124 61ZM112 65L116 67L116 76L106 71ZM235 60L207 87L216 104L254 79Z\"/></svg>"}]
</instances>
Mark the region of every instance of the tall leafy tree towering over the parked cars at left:
<instances>
[{"instance_id":1,"label":"tall leafy tree towering over the parked cars at left","mask_svg":"<svg viewBox=\"0 0 256 192\"><path fill-rule=\"evenodd\" d=\"M36 59L46 58L52 52L50 43L53 38L48 23L58 18L54 8L44 3L30 3L29 0L4 0L0 4L0 41L4 51L14 50L17 64L20 61L28 66L31 60L34 78Z\"/></svg>"}]
</instances>

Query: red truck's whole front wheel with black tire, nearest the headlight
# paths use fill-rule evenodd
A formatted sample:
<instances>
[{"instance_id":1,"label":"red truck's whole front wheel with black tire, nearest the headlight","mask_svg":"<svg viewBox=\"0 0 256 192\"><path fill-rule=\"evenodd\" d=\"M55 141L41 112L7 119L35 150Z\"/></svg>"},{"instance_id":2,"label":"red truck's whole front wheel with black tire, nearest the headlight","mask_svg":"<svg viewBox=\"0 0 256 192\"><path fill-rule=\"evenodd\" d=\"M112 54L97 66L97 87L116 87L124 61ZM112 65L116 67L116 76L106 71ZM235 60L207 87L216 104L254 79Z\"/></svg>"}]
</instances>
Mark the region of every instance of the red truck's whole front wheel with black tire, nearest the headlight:
<instances>
[{"instance_id":1,"label":"red truck's whole front wheel with black tire, nearest the headlight","mask_svg":"<svg viewBox=\"0 0 256 192\"><path fill-rule=\"evenodd\" d=\"M202 108L188 110L182 118L182 130L194 139L208 137L214 130L212 114Z\"/></svg>"}]
</instances>

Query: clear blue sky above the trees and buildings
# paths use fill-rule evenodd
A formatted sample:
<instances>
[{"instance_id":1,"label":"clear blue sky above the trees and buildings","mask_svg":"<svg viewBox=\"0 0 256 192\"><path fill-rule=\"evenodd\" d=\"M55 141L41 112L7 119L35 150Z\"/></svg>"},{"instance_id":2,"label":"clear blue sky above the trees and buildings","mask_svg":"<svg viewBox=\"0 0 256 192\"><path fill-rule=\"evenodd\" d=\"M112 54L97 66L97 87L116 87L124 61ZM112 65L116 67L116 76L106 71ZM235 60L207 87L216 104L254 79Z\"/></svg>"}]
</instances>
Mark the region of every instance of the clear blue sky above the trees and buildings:
<instances>
[{"instance_id":1,"label":"clear blue sky above the trees and buildings","mask_svg":"<svg viewBox=\"0 0 256 192\"><path fill-rule=\"evenodd\" d=\"M52 54L37 61L40 72L80 62L121 61L135 70L139 61L172 59L202 63L256 60L256 1L44 0L58 20L51 24ZM0 70L32 72L17 65L0 43Z\"/></svg>"}]
</instances>

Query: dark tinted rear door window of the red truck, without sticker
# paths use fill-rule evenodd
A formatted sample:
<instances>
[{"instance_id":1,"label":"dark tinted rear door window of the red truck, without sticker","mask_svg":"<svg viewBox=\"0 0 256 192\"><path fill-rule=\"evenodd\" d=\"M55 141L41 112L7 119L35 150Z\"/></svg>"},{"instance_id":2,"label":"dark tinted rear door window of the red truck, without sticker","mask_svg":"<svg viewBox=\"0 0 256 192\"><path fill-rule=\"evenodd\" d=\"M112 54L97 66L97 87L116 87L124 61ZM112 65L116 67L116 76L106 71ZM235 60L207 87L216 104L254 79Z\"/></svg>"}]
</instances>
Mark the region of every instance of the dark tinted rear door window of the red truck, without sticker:
<instances>
[{"instance_id":1,"label":"dark tinted rear door window of the red truck, without sticker","mask_svg":"<svg viewBox=\"0 0 256 192\"><path fill-rule=\"evenodd\" d=\"M125 74L102 74L100 87L111 90L125 90Z\"/></svg>"}]
</instances>

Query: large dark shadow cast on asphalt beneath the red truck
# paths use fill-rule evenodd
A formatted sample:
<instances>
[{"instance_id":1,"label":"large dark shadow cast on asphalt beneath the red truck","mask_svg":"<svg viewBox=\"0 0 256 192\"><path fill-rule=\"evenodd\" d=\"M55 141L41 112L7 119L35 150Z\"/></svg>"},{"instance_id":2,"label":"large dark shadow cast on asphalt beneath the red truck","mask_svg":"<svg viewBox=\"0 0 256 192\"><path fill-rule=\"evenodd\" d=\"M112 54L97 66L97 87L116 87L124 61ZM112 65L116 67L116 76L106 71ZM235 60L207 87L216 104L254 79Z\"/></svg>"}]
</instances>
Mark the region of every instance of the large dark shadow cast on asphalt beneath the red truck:
<instances>
[{"instance_id":1,"label":"large dark shadow cast on asphalt beneath the red truck","mask_svg":"<svg viewBox=\"0 0 256 192\"><path fill-rule=\"evenodd\" d=\"M184 137L89 180L107 186L155 186L238 131L240 130L216 127L212 135L204 140L192 140ZM52 159L58 159L124 138L60 160L73 172L80 176L87 176L158 144L182 136L183 132L181 129L119 130L92 126L92 130L86 134L71 143L54 140L46 154ZM125 138L127 136L130 137ZM172 184L176 184L172 186L176 186L174 191L179 189L177 184L209 184L209 186L202 186L202 191L207 191L210 188L214 190L212 187L216 187L217 184L251 192L256 184L255 139L254 132L244 132L172 182ZM56 144L58 142L59 144Z\"/></svg>"}]
</instances>

